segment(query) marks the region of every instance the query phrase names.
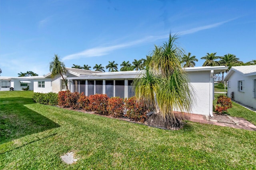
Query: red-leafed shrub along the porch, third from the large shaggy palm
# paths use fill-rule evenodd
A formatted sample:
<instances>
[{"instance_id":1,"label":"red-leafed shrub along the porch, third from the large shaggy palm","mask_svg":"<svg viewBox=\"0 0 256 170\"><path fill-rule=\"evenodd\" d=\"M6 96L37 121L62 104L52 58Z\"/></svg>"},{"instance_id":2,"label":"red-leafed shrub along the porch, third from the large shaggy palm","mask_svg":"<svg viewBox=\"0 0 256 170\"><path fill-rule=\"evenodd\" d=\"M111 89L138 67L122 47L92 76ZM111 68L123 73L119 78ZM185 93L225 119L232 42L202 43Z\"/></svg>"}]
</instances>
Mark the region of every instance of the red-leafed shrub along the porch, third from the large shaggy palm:
<instances>
[{"instance_id":1,"label":"red-leafed shrub along the porch, third from the large shaggy palm","mask_svg":"<svg viewBox=\"0 0 256 170\"><path fill-rule=\"evenodd\" d=\"M109 97L105 94L96 94L96 95L90 95L89 96L89 110L95 111L98 114L101 115L108 115L108 99Z\"/></svg>"}]
</instances>

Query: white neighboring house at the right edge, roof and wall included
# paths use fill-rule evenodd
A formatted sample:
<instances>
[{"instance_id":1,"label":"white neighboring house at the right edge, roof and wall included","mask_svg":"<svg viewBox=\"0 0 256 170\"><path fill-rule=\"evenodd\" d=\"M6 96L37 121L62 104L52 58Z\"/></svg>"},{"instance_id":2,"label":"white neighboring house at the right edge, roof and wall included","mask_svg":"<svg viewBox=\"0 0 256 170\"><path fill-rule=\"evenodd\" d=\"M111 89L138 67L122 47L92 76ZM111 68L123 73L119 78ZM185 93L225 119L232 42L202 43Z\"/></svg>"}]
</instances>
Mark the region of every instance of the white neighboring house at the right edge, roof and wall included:
<instances>
[{"instance_id":1,"label":"white neighboring house at the right edge, roof and wall included","mask_svg":"<svg viewBox=\"0 0 256 170\"><path fill-rule=\"evenodd\" d=\"M228 81L228 97L256 109L256 65L231 67L224 81Z\"/></svg>"}]
</instances>

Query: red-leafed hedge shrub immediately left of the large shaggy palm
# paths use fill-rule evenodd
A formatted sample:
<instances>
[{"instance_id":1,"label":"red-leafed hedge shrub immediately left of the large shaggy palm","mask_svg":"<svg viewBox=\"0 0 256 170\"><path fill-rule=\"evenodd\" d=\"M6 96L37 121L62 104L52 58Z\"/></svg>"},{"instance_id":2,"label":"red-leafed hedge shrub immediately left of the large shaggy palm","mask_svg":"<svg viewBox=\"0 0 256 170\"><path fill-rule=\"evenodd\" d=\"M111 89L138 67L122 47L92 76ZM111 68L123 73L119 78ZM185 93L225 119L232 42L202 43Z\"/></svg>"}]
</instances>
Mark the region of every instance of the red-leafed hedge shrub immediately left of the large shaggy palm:
<instances>
[{"instance_id":1,"label":"red-leafed hedge shrub immediately left of the large shaggy palm","mask_svg":"<svg viewBox=\"0 0 256 170\"><path fill-rule=\"evenodd\" d=\"M148 111L143 103L138 102L135 97L130 97L129 99L125 99L125 104L127 109L126 117L142 123L146 121Z\"/></svg>"}]
</instances>

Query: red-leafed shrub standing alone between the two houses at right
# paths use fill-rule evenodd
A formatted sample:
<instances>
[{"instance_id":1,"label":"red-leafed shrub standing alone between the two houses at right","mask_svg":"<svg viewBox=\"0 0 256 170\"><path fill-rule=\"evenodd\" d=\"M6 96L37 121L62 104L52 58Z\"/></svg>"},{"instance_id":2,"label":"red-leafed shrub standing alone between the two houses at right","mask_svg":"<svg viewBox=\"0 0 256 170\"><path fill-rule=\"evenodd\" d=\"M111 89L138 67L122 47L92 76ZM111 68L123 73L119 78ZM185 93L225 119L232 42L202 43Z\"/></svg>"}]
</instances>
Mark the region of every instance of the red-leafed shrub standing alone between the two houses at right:
<instances>
[{"instance_id":1,"label":"red-leafed shrub standing alone between the two houses at right","mask_svg":"<svg viewBox=\"0 0 256 170\"><path fill-rule=\"evenodd\" d=\"M227 112L227 110L230 109L231 107L232 107L232 101L229 97L226 97L224 95L218 96L215 111L222 114L224 112Z\"/></svg>"}]
</instances>

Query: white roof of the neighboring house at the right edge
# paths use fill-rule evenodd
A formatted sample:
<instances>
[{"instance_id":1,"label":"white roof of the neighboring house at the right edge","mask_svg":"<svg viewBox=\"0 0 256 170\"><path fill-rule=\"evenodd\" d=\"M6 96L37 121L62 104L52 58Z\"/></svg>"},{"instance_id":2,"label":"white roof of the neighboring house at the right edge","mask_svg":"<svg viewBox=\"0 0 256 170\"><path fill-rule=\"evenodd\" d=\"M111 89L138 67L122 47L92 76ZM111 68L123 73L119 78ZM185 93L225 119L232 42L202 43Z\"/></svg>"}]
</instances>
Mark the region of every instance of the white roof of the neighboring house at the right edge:
<instances>
[{"instance_id":1,"label":"white roof of the neighboring house at the right edge","mask_svg":"<svg viewBox=\"0 0 256 170\"><path fill-rule=\"evenodd\" d=\"M240 73L244 76L256 75L256 65L242 65L242 66L233 66L228 71L227 75L224 78L224 81L228 81L229 77L234 73Z\"/></svg>"}]
</instances>

